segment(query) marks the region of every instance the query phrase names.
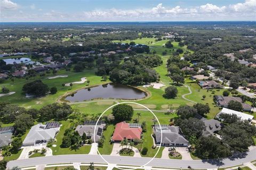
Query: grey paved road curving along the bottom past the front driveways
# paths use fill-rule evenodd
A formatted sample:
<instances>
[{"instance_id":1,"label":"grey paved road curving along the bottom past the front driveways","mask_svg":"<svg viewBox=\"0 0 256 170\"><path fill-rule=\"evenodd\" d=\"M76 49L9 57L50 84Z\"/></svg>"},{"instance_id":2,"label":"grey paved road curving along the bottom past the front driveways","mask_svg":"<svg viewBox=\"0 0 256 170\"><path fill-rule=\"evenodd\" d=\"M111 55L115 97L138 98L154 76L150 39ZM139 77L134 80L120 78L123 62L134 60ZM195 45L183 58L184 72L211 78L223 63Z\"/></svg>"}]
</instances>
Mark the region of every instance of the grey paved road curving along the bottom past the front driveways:
<instances>
[{"instance_id":1,"label":"grey paved road curving along the bottom past the front driveways","mask_svg":"<svg viewBox=\"0 0 256 170\"><path fill-rule=\"evenodd\" d=\"M141 166L147 163L151 158L137 158L137 157L125 157L125 156L103 156L111 164L122 165L134 165ZM225 158L221 161L218 160L178 160L178 159L160 159L155 158L147 166L154 167L170 167L170 168L218 168L231 167L241 165L243 163L256 160L256 148L252 148L250 151L241 154L233 158ZM48 157L36 157L22 160L13 160L7 164L7 168L14 166L29 167L36 165L49 165L49 164L63 164L63 163L105 163L99 155L59 155Z\"/></svg>"}]
</instances>

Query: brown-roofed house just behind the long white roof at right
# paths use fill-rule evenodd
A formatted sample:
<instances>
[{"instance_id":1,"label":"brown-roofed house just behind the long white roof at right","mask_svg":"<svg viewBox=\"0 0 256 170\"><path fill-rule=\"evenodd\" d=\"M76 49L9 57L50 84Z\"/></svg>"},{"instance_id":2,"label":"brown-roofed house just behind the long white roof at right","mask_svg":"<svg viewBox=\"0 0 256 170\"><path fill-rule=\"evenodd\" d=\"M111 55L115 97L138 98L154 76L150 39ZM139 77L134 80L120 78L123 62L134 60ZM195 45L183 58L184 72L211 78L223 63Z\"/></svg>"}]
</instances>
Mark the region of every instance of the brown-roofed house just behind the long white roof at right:
<instances>
[{"instance_id":1,"label":"brown-roofed house just behind the long white roof at right","mask_svg":"<svg viewBox=\"0 0 256 170\"><path fill-rule=\"evenodd\" d=\"M233 97L233 96L214 96L214 101L218 107L228 107L229 101L234 100L238 101L242 104L244 111L251 111L252 107L249 104L243 103L243 100L240 97Z\"/></svg>"}]
</instances>

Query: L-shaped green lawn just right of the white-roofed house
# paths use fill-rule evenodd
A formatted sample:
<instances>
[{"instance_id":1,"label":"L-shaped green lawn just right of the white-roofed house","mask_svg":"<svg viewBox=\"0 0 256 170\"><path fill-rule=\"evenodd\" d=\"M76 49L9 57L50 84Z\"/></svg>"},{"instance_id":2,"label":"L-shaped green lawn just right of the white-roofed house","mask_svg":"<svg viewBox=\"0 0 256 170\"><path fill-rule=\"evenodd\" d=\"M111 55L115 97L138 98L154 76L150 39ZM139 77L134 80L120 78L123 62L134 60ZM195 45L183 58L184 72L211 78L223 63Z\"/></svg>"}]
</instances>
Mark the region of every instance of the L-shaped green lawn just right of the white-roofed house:
<instances>
[{"instance_id":1,"label":"L-shaped green lawn just right of the white-roofed house","mask_svg":"<svg viewBox=\"0 0 256 170\"><path fill-rule=\"evenodd\" d=\"M62 138L64 136L65 130L70 128L73 124L69 121L61 121L60 132L57 134L57 142L52 143L52 145L57 145L57 147L50 147L52 149L53 155L67 155L67 154L89 154L91 150L90 145L85 145L80 148L61 148Z\"/></svg>"}]
</instances>

